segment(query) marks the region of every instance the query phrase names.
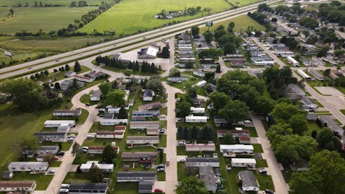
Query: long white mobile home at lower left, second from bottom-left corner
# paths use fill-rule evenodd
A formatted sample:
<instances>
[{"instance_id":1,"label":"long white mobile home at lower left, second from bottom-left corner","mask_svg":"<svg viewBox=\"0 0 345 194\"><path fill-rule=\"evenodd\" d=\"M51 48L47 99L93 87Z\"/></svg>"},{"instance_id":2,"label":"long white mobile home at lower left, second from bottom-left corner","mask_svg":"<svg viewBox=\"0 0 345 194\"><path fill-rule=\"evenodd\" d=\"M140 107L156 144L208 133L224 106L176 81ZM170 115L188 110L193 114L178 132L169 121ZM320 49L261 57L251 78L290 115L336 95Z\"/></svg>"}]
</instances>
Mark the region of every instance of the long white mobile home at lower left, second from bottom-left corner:
<instances>
[{"instance_id":1,"label":"long white mobile home at lower left, second from bottom-left corner","mask_svg":"<svg viewBox=\"0 0 345 194\"><path fill-rule=\"evenodd\" d=\"M31 172L31 171L47 171L48 162L11 162L8 164L8 171Z\"/></svg>"}]
</instances>

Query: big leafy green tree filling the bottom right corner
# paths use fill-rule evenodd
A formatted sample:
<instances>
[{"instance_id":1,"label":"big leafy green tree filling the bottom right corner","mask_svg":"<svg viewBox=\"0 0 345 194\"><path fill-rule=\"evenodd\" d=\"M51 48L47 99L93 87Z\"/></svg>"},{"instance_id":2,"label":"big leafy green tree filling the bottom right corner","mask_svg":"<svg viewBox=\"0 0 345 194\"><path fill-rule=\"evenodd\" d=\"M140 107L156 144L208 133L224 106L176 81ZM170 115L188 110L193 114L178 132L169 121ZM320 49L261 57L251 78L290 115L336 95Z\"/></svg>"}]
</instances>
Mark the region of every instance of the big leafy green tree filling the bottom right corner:
<instances>
[{"instance_id":1,"label":"big leafy green tree filling the bottom right corner","mask_svg":"<svg viewBox=\"0 0 345 194\"><path fill-rule=\"evenodd\" d=\"M309 171L293 173L290 182L293 193L344 193L345 159L339 153L320 151L308 164Z\"/></svg>"}]
</instances>

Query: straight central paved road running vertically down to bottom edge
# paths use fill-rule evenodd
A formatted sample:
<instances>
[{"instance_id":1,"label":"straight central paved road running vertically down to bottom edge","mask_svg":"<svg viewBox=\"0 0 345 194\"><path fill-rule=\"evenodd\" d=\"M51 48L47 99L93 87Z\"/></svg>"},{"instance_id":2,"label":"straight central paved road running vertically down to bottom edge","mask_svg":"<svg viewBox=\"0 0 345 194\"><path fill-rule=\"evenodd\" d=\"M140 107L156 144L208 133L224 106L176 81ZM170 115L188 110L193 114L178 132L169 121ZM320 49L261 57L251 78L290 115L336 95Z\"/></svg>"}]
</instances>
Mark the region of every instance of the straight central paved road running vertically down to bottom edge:
<instances>
[{"instance_id":1,"label":"straight central paved road running vertically down to bottom edge","mask_svg":"<svg viewBox=\"0 0 345 194\"><path fill-rule=\"evenodd\" d=\"M176 123L175 123L175 88L168 84L164 84L168 93L167 128L166 128L166 159L170 159L170 165L166 166L166 191L165 193L175 193L177 186L177 139L176 139Z\"/></svg>"}]
</instances>

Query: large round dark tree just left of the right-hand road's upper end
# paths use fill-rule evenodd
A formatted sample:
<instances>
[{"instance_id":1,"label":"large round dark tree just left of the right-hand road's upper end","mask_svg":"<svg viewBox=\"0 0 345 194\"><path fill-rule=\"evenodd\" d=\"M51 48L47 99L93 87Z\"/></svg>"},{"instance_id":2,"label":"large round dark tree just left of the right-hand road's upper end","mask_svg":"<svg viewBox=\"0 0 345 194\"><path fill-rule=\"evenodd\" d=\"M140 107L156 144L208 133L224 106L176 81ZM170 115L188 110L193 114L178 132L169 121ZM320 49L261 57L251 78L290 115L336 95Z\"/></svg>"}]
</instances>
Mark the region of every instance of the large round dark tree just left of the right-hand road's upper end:
<instances>
[{"instance_id":1,"label":"large round dark tree just left of the right-hand road's upper end","mask_svg":"<svg viewBox=\"0 0 345 194\"><path fill-rule=\"evenodd\" d=\"M226 105L219 109L219 115L226 119L229 124L234 124L248 119L249 108L243 101L227 101Z\"/></svg>"}]
</instances>

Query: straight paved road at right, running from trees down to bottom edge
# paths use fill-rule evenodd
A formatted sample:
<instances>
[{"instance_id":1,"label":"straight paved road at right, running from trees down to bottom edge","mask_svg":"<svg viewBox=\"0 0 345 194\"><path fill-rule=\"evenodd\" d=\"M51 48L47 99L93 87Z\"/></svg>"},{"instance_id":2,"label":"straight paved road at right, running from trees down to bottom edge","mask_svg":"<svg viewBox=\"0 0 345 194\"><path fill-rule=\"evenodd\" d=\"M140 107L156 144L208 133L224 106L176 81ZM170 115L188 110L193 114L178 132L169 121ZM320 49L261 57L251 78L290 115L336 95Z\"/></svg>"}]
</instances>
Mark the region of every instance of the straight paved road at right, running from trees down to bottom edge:
<instances>
[{"instance_id":1,"label":"straight paved road at right, running from trees down to bottom edge","mask_svg":"<svg viewBox=\"0 0 345 194\"><path fill-rule=\"evenodd\" d=\"M273 153L272 148L270 148L270 141L266 137L265 128L257 115L251 115L250 117L253 121L257 135L259 136L259 142L261 142L262 149L266 157L270 176L272 177L272 181L275 186L275 193L288 194L287 184L284 180L282 170L279 167L279 163L277 162L277 159L275 159L275 154Z\"/></svg>"}]
</instances>

